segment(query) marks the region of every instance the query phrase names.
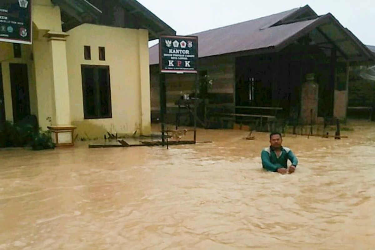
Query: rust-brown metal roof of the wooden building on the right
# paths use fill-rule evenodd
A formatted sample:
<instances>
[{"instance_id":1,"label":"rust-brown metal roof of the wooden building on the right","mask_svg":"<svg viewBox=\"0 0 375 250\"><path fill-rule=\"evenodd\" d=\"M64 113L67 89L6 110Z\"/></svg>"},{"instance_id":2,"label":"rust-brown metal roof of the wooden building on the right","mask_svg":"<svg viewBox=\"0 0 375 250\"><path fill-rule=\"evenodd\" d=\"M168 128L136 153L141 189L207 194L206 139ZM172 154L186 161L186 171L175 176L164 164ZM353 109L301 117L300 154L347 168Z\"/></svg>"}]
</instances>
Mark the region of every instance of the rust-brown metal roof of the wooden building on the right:
<instances>
[{"instance_id":1,"label":"rust-brown metal roof of the wooden building on the right","mask_svg":"<svg viewBox=\"0 0 375 250\"><path fill-rule=\"evenodd\" d=\"M342 27L330 13L324 16L313 14L307 21L297 19L295 22L287 24L281 22L280 25L273 26L288 16L300 15L302 11L306 10L306 7L309 8L309 6L305 6L239 24L192 34L193 36L198 36L199 58L267 48L278 51L285 48L296 38L311 32L319 25L325 24L321 26L322 32L326 33L327 39L330 39L330 42L334 42L338 48L341 48L341 51L342 49L347 51L347 53L341 53L346 59L349 57L356 58L362 54L364 55L361 57L362 60L364 58L374 60L374 56L371 55L369 49L349 30ZM335 36L331 37L332 34L340 34L342 36L341 40L337 40ZM149 49L149 54L150 64L158 64L159 46L152 46Z\"/></svg>"}]
</instances>

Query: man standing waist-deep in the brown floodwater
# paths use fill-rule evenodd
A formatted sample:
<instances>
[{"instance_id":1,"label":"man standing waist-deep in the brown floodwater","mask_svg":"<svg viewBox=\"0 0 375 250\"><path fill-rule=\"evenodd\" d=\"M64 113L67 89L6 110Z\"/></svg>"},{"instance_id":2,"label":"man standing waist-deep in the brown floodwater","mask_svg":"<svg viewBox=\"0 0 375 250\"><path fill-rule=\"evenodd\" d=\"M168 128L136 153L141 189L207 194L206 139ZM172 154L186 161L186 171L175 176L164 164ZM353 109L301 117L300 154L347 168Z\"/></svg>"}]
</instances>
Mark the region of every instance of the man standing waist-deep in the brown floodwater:
<instances>
[{"instance_id":1,"label":"man standing waist-deep in the brown floodwater","mask_svg":"<svg viewBox=\"0 0 375 250\"><path fill-rule=\"evenodd\" d=\"M270 144L270 147L264 148L261 153L263 168L280 174L292 174L296 171L297 157L290 148L282 147L281 133L271 133ZM287 166L288 159L292 163L289 168Z\"/></svg>"}]
</instances>

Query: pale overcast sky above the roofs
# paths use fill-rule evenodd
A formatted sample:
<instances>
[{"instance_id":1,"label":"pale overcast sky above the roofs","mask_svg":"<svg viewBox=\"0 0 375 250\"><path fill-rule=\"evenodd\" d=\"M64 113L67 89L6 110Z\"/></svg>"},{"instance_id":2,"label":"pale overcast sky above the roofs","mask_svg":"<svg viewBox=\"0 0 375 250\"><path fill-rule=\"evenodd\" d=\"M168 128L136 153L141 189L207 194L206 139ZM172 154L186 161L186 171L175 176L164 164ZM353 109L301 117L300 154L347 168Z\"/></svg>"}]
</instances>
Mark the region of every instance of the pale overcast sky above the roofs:
<instances>
[{"instance_id":1,"label":"pale overcast sky above the roofs","mask_svg":"<svg viewBox=\"0 0 375 250\"><path fill-rule=\"evenodd\" d=\"M309 4L318 15L332 13L366 45L375 45L375 0L138 1L177 31L178 35L248 21Z\"/></svg>"}]
</instances>

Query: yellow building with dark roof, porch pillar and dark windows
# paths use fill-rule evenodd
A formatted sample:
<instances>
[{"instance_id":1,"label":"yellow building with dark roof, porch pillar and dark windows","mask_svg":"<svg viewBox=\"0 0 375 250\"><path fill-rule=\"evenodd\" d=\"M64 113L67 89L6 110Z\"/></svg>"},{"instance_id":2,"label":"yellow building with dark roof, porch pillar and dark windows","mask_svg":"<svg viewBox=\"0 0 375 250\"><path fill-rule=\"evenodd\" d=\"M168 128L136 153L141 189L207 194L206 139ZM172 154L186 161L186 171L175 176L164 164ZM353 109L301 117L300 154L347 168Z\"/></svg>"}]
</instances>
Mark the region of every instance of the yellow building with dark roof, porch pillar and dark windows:
<instances>
[{"instance_id":1,"label":"yellow building with dark roof, porch pillar and dark windows","mask_svg":"<svg viewBox=\"0 0 375 250\"><path fill-rule=\"evenodd\" d=\"M150 134L148 41L175 31L135 0L31 4L32 45L0 42L0 121L31 114L80 137Z\"/></svg>"}]
</instances>

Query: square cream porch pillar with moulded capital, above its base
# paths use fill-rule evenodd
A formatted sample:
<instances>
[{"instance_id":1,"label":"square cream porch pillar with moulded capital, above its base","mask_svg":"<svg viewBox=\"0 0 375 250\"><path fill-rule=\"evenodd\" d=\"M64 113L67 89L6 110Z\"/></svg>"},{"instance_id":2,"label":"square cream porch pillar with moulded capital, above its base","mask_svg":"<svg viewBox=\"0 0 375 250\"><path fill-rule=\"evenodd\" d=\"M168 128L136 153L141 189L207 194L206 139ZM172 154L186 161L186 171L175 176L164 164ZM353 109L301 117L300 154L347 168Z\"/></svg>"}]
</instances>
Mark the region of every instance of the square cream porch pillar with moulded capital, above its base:
<instances>
[{"instance_id":1,"label":"square cream porch pillar with moulded capital, above its base","mask_svg":"<svg viewBox=\"0 0 375 250\"><path fill-rule=\"evenodd\" d=\"M33 52L39 126L70 125L65 36L60 7L33 1ZM51 123L47 118L51 118Z\"/></svg>"}]
</instances>

